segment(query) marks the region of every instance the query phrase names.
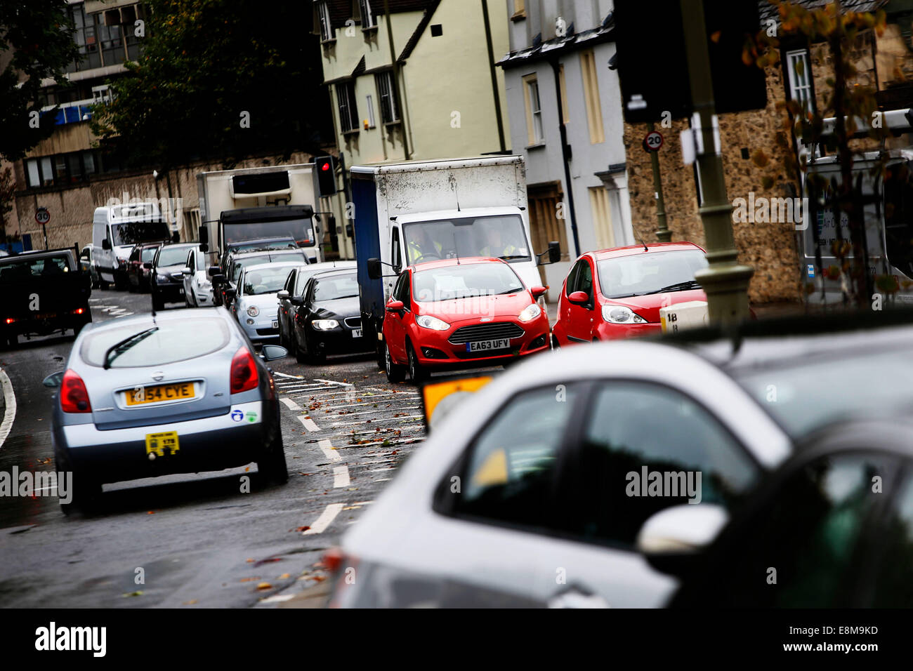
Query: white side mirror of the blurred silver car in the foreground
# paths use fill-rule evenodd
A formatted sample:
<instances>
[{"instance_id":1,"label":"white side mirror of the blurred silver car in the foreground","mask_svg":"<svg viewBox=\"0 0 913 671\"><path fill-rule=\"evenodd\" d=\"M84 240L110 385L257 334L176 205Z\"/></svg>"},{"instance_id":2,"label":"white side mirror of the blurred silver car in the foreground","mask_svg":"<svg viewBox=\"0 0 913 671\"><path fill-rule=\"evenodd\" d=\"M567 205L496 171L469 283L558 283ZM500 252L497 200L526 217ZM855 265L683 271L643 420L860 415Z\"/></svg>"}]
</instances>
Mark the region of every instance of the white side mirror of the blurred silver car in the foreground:
<instances>
[{"instance_id":1,"label":"white side mirror of the blurred silver car in the foreground","mask_svg":"<svg viewBox=\"0 0 913 671\"><path fill-rule=\"evenodd\" d=\"M685 503L664 508L644 522L635 547L657 571L681 576L694 568L729 522L726 508L714 503Z\"/></svg>"}]
</instances>

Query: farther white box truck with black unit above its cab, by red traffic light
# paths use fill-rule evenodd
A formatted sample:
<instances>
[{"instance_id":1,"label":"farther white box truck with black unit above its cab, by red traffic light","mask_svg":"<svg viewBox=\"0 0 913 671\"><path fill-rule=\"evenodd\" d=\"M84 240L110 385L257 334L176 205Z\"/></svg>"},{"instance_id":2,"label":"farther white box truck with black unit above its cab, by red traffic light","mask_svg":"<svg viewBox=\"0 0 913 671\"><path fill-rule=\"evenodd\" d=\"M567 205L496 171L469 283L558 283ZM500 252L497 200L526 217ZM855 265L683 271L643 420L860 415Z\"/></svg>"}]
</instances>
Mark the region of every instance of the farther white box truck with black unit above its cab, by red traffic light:
<instances>
[{"instance_id":1,"label":"farther white box truck with black unit above its cab, by red traffic light","mask_svg":"<svg viewBox=\"0 0 913 671\"><path fill-rule=\"evenodd\" d=\"M200 239L220 257L228 243L290 236L311 263L323 260L313 163L198 173L196 188L207 228Z\"/></svg>"}]
</instances>

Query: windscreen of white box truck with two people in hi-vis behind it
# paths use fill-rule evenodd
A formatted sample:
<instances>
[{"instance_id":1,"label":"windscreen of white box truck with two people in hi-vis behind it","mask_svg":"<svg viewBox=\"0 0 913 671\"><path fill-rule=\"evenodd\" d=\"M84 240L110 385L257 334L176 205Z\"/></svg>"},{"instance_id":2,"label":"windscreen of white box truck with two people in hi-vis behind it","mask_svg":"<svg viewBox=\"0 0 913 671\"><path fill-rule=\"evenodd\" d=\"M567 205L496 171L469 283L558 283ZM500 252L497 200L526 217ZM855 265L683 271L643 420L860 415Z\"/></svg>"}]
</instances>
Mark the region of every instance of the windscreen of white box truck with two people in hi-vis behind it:
<instances>
[{"instance_id":1,"label":"windscreen of white box truck with two people in hi-vis behind it","mask_svg":"<svg viewBox=\"0 0 913 671\"><path fill-rule=\"evenodd\" d=\"M519 215L477 216L403 225L409 264L456 257L500 257L529 261L530 248Z\"/></svg>"}]
</instances>

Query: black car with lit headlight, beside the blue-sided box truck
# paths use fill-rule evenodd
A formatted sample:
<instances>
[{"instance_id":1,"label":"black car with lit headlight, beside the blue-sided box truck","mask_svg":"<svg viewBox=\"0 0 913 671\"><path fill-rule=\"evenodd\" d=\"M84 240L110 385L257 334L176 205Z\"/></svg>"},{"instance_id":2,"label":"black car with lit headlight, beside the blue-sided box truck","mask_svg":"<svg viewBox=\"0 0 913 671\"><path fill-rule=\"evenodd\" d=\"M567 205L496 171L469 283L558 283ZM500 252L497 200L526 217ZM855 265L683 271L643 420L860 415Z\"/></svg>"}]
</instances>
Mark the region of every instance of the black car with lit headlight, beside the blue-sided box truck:
<instances>
[{"instance_id":1,"label":"black car with lit headlight, beside the blue-sided box truck","mask_svg":"<svg viewBox=\"0 0 913 671\"><path fill-rule=\"evenodd\" d=\"M279 296L282 299L282 296ZM362 337L358 278L354 270L330 270L314 275L305 285L292 320L291 342L299 363L318 364L327 354L373 351Z\"/></svg>"}]
</instances>

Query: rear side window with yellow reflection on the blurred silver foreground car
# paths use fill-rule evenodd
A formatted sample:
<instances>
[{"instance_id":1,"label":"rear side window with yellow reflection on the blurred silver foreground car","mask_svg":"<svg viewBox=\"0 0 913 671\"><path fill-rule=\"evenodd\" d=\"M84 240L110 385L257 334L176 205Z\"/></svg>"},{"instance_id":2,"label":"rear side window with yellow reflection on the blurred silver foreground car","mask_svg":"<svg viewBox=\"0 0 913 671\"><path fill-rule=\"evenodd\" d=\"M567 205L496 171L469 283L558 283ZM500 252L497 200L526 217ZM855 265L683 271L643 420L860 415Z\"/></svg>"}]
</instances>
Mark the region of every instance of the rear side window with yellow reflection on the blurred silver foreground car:
<instances>
[{"instance_id":1,"label":"rear side window with yellow reflection on the blurred silver foreground car","mask_svg":"<svg viewBox=\"0 0 913 671\"><path fill-rule=\"evenodd\" d=\"M451 511L545 529L555 465L577 400L572 385L515 396L468 448ZM442 485L449 486L449 478Z\"/></svg>"}]
</instances>

